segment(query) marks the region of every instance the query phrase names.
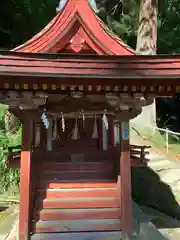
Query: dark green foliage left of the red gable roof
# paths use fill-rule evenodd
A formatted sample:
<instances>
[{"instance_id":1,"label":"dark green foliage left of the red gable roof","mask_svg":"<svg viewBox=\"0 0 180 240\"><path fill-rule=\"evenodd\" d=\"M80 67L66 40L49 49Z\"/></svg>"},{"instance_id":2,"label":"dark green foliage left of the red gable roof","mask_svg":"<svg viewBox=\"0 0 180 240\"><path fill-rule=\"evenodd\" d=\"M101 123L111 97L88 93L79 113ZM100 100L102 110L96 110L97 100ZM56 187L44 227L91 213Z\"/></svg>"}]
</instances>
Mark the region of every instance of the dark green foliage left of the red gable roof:
<instances>
[{"instance_id":1,"label":"dark green foliage left of the red gable roof","mask_svg":"<svg viewBox=\"0 0 180 240\"><path fill-rule=\"evenodd\" d=\"M0 7L0 47L10 49L38 33L56 13L58 0L6 0Z\"/></svg>"}]
</instances>

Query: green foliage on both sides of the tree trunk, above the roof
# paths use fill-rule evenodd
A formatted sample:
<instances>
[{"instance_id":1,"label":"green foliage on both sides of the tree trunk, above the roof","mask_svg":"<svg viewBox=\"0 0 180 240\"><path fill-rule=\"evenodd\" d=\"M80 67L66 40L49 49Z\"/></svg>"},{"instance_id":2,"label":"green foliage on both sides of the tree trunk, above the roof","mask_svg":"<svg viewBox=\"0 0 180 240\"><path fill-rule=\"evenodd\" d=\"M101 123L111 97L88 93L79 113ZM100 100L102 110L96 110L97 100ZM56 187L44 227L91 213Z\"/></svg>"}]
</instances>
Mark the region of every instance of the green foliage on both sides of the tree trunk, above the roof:
<instances>
[{"instance_id":1,"label":"green foliage on both sides of the tree trunk, above the roof","mask_svg":"<svg viewBox=\"0 0 180 240\"><path fill-rule=\"evenodd\" d=\"M136 48L140 0L96 0L101 8L100 17L123 41ZM107 4L107 2L110 2ZM122 5L118 6L118 3ZM159 0L157 52L180 53L179 0ZM109 17L110 16L110 17ZM107 21L108 18L108 21Z\"/></svg>"}]
</instances>

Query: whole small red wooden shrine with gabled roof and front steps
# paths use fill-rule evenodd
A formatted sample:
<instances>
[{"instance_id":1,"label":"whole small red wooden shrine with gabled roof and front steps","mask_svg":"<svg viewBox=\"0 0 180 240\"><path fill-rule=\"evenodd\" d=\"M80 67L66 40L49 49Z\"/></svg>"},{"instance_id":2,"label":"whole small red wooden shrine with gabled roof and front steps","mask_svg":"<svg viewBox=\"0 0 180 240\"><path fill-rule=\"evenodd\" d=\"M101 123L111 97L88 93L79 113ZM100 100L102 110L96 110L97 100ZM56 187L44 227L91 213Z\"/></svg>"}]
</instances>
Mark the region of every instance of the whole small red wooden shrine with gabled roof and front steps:
<instances>
[{"instance_id":1,"label":"whole small red wooden shrine with gabled roof and front steps","mask_svg":"<svg viewBox=\"0 0 180 240\"><path fill-rule=\"evenodd\" d=\"M120 239L132 231L129 120L180 90L179 56L136 56L87 0L0 52L0 102L21 119L19 240ZM109 237L109 238L108 238Z\"/></svg>"}]
</instances>

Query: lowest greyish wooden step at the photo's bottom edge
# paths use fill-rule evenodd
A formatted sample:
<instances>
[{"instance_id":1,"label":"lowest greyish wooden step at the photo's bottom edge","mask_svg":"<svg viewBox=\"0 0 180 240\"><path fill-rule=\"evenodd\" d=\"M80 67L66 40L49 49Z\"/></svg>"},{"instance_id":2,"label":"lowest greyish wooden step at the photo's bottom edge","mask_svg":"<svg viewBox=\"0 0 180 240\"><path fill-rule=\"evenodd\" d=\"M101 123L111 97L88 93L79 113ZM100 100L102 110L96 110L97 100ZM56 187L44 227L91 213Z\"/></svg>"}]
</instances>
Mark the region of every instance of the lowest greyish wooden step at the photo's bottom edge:
<instances>
[{"instance_id":1,"label":"lowest greyish wooden step at the photo's bottom edge","mask_svg":"<svg viewBox=\"0 0 180 240\"><path fill-rule=\"evenodd\" d=\"M120 240L120 231L75 232L75 233L36 233L31 240Z\"/></svg>"}]
</instances>

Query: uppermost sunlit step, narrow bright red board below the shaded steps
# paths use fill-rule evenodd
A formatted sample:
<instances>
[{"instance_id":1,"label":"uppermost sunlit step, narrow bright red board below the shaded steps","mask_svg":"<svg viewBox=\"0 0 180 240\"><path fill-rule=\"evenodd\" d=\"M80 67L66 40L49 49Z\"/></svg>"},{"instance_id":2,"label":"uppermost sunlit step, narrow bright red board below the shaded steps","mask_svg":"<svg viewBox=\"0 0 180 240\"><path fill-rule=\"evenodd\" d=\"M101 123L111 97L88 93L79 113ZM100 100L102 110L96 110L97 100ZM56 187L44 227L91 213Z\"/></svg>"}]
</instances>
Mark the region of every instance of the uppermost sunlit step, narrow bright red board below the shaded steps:
<instances>
[{"instance_id":1,"label":"uppermost sunlit step, narrow bright red board below the shaded steps","mask_svg":"<svg viewBox=\"0 0 180 240\"><path fill-rule=\"evenodd\" d=\"M116 179L69 179L43 180L37 183L37 189L47 188L116 188Z\"/></svg>"}]
</instances>

